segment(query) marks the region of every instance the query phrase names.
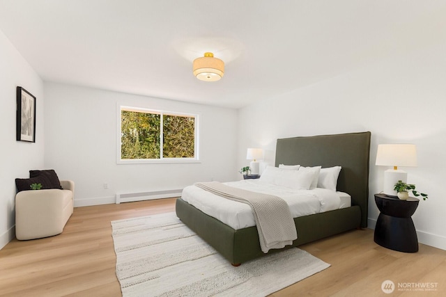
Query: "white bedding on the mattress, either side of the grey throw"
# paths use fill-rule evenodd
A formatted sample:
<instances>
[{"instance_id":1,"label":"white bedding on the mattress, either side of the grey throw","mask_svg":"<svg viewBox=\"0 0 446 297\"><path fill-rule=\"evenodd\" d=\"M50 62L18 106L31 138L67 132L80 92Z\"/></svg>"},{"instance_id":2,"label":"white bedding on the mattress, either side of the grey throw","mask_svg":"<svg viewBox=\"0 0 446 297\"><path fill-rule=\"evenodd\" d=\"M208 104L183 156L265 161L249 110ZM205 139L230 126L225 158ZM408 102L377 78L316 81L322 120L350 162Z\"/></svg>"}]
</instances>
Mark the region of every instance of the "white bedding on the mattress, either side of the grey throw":
<instances>
[{"instance_id":1,"label":"white bedding on the mattress, either side of the grey throw","mask_svg":"<svg viewBox=\"0 0 446 297\"><path fill-rule=\"evenodd\" d=\"M289 204L293 218L351 206L350 195L325 188L294 190L273 184L263 184L258 179L245 179L224 184L248 191L276 195ZM197 186L185 187L181 198L235 230L256 225L252 210L247 204L213 195Z\"/></svg>"}]
</instances>

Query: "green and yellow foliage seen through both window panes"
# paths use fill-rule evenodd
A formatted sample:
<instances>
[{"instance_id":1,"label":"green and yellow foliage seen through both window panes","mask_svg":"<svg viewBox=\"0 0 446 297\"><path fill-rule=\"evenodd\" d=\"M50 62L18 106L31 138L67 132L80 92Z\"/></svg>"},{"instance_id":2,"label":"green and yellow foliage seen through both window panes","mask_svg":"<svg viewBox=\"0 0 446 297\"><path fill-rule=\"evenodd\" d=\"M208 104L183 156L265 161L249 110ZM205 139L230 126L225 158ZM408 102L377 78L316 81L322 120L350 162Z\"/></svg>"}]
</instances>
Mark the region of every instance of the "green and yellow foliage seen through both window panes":
<instances>
[{"instance_id":1,"label":"green and yellow foliage seen through both window panes","mask_svg":"<svg viewBox=\"0 0 446 297\"><path fill-rule=\"evenodd\" d=\"M194 141L193 116L121 110L121 159L194 158Z\"/></svg>"}]
</instances>

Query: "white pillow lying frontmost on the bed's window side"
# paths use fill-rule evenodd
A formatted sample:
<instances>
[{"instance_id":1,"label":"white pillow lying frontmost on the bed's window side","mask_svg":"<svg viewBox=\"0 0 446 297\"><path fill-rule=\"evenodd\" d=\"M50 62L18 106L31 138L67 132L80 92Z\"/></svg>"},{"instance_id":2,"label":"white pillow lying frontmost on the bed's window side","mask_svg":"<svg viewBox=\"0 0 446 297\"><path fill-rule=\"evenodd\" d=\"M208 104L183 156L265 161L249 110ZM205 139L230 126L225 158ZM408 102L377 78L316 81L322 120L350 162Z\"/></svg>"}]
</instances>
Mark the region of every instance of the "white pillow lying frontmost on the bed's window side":
<instances>
[{"instance_id":1,"label":"white pillow lying frontmost on the bed's window side","mask_svg":"<svg viewBox=\"0 0 446 297\"><path fill-rule=\"evenodd\" d=\"M262 173L259 182L275 184L295 190L308 190L312 184L316 170L289 170L268 166Z\"/></svg>"}]
</instances>

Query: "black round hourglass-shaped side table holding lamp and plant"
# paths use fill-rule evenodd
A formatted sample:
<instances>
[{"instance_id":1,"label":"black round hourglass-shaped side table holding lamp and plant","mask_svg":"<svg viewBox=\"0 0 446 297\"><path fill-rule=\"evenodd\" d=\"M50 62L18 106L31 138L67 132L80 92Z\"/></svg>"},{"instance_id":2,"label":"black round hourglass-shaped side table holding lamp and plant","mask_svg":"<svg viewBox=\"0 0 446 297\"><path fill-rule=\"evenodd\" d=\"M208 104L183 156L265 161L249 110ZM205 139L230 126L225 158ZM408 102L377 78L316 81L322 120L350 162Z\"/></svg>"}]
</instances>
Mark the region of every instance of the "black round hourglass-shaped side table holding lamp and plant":
<instances>
[{"instance_id":1,"label":"black round hourglass-shaped side table holding lamp and plant","mask_svg":"<svg viewBox=\"0 0 446 297\"><path fill-rule=\"evenodd\" d=\"M375 194L380 214L376 220L374 241L380 246L399 252L417 252L418 239L411 216L418 207L419 199L408 200Z\"/></svg>"}]
</instances>

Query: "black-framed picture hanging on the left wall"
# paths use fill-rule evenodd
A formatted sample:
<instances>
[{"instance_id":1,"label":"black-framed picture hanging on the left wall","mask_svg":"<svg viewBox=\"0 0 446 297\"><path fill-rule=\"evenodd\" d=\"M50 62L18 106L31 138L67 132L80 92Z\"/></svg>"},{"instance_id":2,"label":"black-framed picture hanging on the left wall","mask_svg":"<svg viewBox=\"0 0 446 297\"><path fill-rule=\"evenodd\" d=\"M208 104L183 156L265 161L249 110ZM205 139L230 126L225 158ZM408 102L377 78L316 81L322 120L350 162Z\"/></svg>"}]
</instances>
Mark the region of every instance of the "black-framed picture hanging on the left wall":
<instances>
[{"instance_id":1,"label":"black-framed picture hanging on the left wall","mask_svg":"<svg viewBox=\"0 0 446 297\"><path fill-rule=\"evenodd\" d=\"M36 97L17 87L17 141L36 142Z\"/></svg>"}]
</instances>

